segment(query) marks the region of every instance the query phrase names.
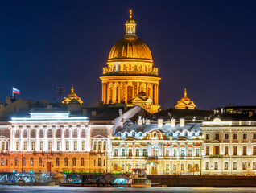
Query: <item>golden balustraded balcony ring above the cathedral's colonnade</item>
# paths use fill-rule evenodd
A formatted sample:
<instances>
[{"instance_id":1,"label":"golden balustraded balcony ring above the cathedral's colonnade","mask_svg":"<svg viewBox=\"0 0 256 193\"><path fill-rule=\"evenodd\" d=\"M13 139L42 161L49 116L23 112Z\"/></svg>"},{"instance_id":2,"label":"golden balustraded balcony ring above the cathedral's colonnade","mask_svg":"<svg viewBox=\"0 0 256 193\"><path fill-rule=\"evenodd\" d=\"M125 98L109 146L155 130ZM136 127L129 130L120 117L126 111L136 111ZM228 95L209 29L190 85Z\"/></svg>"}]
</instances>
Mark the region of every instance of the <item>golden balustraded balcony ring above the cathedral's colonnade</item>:
<instances>
[{"instance_id":1,"label":"golden balustraded balcony ring above the cathedral's colonnade","mask_svg":"<svg viewBox=\"0 0 256 193\"><path fill-rule=\"evenodd\" d=\"M159 76L158 68L153 68L151 72L143 71L109 71L108 67L103 68L103 76L122 76L122 75L131 75L131 76Z\"/></svg>"}]
</instances>

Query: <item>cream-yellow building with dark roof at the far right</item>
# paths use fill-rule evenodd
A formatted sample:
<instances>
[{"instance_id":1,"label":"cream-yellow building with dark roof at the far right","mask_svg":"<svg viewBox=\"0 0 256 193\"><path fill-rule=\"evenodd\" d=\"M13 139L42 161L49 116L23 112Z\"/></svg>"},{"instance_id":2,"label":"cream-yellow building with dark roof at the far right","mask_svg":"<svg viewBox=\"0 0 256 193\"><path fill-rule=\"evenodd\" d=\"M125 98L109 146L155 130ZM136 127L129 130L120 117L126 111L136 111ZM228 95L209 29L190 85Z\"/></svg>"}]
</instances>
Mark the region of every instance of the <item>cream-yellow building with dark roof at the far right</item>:
<instances>
[{"instance_id":1,"label":"cream-yellow building with dark roof at the far right","mask_svg":"<svg viewBox=\"0 0 256 193\"><path fill-rule=\"evenodd\" d=\"M230 109L230 108L226 108ZM256 175L255 109L230 113L221 109L201 127L203 175Z\"/></svg>"}]
</instances>

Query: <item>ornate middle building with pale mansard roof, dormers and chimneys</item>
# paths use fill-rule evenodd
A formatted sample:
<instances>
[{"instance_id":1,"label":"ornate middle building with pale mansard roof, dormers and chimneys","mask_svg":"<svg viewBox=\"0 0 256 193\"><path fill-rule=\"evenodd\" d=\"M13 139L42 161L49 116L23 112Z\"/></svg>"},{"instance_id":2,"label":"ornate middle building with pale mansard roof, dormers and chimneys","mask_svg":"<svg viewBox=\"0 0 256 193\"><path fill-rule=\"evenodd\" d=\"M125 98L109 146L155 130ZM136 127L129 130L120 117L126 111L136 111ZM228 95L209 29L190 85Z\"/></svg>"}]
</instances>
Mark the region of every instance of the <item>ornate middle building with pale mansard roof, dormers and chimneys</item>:
<instances>
[{"instance_id":1,"label":"ornate middle building with pale mansard roof, dormers and chimneys","mask_svg":"<svg viewBox=\"0 0 256 193\"><path fill-rule=\"evenodd\" d=\"M146 168L149 175L200 175L200 123L128 121L116 130L111 142L113 172Z\"/></svg>"}]
</instances>

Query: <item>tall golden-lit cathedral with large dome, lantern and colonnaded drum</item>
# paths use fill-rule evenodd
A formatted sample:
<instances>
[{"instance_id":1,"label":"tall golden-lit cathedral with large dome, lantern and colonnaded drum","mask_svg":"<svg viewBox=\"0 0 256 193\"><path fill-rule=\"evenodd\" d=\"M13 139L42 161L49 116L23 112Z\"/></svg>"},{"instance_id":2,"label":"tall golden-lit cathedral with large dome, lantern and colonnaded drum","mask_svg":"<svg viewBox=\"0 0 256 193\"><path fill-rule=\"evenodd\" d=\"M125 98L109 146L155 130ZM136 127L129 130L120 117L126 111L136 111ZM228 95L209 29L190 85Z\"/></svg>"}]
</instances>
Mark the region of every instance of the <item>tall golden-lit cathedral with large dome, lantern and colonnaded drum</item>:
<instances>
[{"instance_id":1,"label":"tall golden-lit cathedral with large dome, lantern and colonnaded drum","mask_svg":"<svg viewBox=\"0 0 256 193\"><path fill-rule=\"evenodd\" d=\"M105 105L116 103L127 106L140 105L150 113L156 113L159 106L158 68L154 63L150 49L136 35L136 23L132 18L126 21L126 34L114 44L107 67L103 68L102 101ZM145 93L150 100L145 102L136 96ZM144 94L143 94L144 95ZM150 101L150 102L149 102Z\"/></svg>"}]
</instances>

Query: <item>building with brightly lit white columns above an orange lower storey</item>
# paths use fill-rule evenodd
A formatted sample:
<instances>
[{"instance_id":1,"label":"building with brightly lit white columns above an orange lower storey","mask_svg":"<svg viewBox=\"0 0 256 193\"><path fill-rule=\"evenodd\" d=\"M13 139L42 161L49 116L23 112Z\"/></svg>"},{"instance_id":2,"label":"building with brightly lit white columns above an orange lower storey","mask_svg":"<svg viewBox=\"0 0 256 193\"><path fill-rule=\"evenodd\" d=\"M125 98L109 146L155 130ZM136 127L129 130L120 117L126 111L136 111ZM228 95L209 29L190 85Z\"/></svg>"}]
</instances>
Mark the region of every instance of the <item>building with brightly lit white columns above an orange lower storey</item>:
<instances>
[{"instance_id":1,"label":"building with brightly lit white columns above an orange lower storey","mask_svg":"<svg viewBox=\"0 0 256 193\"><path fill-rule=\"evenodd\" d=\"M30 113L13 117L8 127L10 149L2 154L2 171L108 172L111 122L89 122L68 112Z\"/></svg>"}]
</instances>

